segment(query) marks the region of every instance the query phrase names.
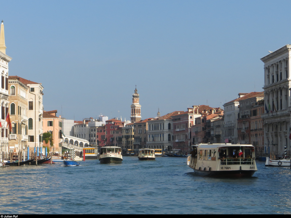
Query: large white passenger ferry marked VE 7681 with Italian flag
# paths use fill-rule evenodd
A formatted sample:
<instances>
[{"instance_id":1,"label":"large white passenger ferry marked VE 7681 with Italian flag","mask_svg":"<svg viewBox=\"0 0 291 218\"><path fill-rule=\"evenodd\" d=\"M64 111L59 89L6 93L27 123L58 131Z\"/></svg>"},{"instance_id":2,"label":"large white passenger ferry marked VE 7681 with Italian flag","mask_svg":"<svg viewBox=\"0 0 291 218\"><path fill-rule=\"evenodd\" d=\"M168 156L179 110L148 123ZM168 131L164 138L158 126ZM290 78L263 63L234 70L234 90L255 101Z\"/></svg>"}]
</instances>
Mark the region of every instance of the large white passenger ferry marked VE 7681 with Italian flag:
<instances>
[{"instance_id":1,"label":"large white passenger ferry marked VE 7681 with Italian flag","mask_svg":"<svg viewBox=\"0 0 291 218\"><path fill-rule=\"evenodd\" d=\"M189 167L201 176L250 177L258 171L250 144L199 144ZM234 157L235 156L235 157Z\"/></svg>"}]
</instances>

